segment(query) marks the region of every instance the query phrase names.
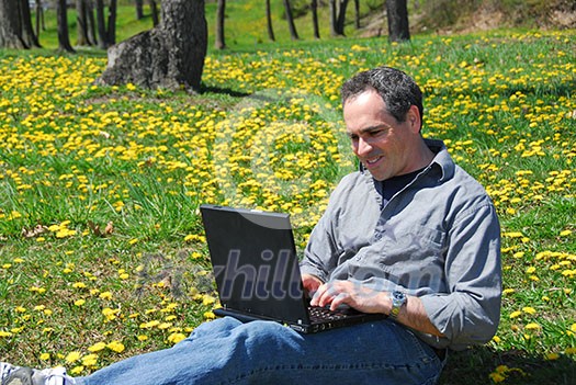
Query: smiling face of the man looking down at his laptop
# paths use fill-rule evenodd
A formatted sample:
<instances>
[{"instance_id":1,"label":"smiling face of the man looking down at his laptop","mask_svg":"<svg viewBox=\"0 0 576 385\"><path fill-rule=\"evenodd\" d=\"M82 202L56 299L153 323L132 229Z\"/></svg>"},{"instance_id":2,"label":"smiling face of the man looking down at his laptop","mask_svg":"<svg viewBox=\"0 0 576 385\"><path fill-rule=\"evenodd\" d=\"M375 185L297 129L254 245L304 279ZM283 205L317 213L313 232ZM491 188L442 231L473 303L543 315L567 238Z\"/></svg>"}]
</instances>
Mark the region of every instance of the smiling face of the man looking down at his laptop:
<instances>
[{"instance_id":1,"label":"smiling face of the man looking down at his laptop","mask_svg":"<svg viewBox=\"0 0 576 385\"><path fill-rule=\"evenodd\" d=\"M343 106L343 118L354 155L379 181L415 171L419 136L419 115L410 109L405 122L398 123L386 112L375 90L368 90ZM415 116L418 127L415 128Z\"/></svg>"}]
</instances>

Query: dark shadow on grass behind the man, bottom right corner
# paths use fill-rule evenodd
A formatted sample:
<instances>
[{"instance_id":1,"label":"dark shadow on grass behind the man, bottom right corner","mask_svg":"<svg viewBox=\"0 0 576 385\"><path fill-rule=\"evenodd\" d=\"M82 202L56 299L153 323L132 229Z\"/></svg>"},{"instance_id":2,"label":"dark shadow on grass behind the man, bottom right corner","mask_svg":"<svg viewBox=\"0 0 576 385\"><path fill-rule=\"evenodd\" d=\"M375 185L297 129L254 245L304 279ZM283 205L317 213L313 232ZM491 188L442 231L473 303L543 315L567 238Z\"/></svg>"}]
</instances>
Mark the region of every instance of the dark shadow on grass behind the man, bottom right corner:
<instances>
[{"instance_id":1,"label":"dark shadow on grass behind the man, bottom right corner","mask_svg":"<svg viewBox=\"0 0 576 385\"><path fill-rule=\"evenodd\" d=\"M451 351L439 385L495 384L490 374L500 366L500 384L517 385L574 385L576 360L561 355L546 360L524 351L495 351L487 347L462 352Z\"/></svg>"}]
</instances>

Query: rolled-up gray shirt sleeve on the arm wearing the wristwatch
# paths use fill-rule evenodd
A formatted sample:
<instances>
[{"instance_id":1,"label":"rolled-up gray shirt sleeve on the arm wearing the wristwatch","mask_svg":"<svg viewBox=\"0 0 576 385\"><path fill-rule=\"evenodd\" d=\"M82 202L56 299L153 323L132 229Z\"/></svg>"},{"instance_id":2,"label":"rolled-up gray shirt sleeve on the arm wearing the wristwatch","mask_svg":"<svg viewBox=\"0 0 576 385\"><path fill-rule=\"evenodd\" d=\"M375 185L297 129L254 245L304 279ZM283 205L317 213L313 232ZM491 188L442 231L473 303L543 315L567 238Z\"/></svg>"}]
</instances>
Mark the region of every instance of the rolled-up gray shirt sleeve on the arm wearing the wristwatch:
<instances>
[{"instance_id":1,"label":"rolled-up gray shirt sleeve on the arm wearing the wristwatch","mask_svg":"<svg viewBox=\"0 0 576 385\"><path fill-rule=\"evenodd\" d=\"M449 234L445 280L449 293L421 302L452 349L488 342L500 317L500 227L490 203L461 215Z\"/></svg>"}]
</instances>

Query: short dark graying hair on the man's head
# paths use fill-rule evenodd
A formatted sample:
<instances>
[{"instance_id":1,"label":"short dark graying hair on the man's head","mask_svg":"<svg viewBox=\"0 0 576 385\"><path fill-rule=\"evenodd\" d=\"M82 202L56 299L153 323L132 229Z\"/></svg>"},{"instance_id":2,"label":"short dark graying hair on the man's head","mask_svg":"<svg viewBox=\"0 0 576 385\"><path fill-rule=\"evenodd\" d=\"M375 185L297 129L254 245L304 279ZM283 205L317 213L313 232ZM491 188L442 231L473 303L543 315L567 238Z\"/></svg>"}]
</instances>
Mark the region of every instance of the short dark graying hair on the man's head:
<instances>
[{"instance_id":1,"label":"short dark graying hair on the man's head","mask_svg":"<svg viewBox=\"0 0 576 385\"><path fill-rule=\"evenodd\" d=\"M386 104L387 112L398 122L406 120L410 105L416 105L423 118L422 91L413 78L399 69L377 67L359 72L346 81L341 89L342 106L369 89L374 89Z\"/></svg>"}]
</instances>

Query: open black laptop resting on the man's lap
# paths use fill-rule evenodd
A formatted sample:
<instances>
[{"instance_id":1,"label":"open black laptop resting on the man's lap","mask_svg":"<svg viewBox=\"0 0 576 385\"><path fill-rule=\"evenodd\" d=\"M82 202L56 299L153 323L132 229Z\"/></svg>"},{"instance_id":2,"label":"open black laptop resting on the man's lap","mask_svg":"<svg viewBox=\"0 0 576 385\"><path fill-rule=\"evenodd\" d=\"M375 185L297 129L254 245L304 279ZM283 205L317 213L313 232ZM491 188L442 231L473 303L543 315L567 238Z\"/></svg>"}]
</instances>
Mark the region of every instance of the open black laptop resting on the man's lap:
<instances>
[{"instance_id":1,"label":"open black laptop resting on the man's lap","mask_svg":"<svg viewBox=\"0 0 576 385\"><path fill-rule=\"evenodd\" d=\"M222 304L216 316L272 320L302 333L386 317L309 306L289 214L207 204L200 211Z\"/></svg>"}]
</instances>

